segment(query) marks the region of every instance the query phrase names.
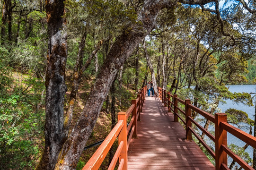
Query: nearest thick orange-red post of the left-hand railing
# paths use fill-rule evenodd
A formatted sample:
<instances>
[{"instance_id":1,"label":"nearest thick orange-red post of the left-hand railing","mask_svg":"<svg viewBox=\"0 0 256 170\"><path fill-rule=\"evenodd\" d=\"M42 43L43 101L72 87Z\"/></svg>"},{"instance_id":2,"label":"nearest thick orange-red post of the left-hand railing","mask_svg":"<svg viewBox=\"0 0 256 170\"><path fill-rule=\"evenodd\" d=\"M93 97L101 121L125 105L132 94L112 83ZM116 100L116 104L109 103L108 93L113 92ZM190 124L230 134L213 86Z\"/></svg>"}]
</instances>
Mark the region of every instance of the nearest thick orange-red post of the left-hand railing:
<instances>
[{"instance_id":1,"label":"nearest thick orange-red post of the left-hand railing","mask_svg":"<svg viewBox=\"0 0 256 170\"><path fill-rule=\"evenodd\" d=\"M124 168L123 170L128 169L128 154L127 154L127 127L126 127L126 112L119 112L118 113L118 121L124 120L124 127L122 128L119 136L118 136L118 144L121 143L121 141L124 142L124 146L122 148L122 151L119 156L119 162L124 159Z\"/></svg>"}]
</instances>

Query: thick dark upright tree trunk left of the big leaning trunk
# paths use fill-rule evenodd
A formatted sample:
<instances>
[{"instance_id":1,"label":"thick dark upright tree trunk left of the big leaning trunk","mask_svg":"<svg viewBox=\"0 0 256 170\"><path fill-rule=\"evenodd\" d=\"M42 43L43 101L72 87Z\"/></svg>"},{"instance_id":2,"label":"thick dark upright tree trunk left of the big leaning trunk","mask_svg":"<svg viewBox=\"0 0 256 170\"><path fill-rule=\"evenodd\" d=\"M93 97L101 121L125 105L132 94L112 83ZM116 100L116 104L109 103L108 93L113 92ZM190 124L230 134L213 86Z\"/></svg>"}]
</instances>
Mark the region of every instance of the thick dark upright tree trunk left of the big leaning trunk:
<instances>
[{"instance_id":1,"label":"thick dark upright tree trunk left of the big leaning trunk","mask_svg":"<svg viewBox=\"0 0 256 170\"><path fill-rule=\"evenodd\" d=\"M57 8L58 7L58 8ZM37 170L54 170L66 137L63 126L63 104L67 91L65 66L67 61L67 33L63 0L46 0L48 21L48 52L45 97L45 146Z\"/></svg>"}]
</instances>

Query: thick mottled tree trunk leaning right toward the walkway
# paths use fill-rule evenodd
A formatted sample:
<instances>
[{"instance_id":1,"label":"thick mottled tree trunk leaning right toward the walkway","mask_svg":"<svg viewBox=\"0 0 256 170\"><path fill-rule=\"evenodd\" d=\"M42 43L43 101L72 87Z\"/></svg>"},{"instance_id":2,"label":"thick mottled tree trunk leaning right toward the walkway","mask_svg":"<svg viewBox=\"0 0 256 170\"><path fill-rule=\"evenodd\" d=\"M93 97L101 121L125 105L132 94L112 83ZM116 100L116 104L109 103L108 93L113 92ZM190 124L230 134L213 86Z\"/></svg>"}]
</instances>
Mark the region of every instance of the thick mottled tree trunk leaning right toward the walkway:
<instances>
[{"instance_id":1,"label":"thick mottled tree trunk leaning right toward the walkway","mask_svg":"<svg viewBox=\"0 0 256 170\"><path fill-rule=\"evenodd\" d=\"M136 46L154 28L159 10L170 5L170 1L145 0L138 14L137 24L126 26L123 33L116 38L88 95L79 120L62 147L56 170L76 169L79 156L92 132L115 75Z\"/></svg>"}]
</instances>

